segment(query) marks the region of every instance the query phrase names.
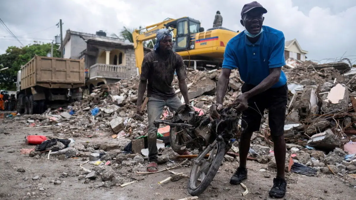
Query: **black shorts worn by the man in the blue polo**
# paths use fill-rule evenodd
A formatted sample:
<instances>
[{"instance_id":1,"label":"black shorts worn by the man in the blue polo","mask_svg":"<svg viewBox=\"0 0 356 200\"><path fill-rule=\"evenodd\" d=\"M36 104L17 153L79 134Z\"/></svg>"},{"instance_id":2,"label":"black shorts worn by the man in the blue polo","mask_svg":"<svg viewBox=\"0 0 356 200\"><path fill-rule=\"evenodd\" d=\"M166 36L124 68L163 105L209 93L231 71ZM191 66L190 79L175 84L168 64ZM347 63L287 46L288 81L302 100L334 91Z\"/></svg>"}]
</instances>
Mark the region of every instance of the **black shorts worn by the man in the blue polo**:
<instances>
[{"instance_id":1,"label":"black shorts worn by the man in the blue polo","mask_svg":"<svg viewBox=\"0 0 356 200\"><path fill-rule=\"evenodd\" d=\"M245 93L255 85L244 83L241 87L242 93ZM248 109L242 112L242 128L246 133L259 131L263 111L268 109L268 125L272 136L281 136L284 133L284 120L286 119L287 107L287 84L279 88L270 88L263 93L257 94L248 99ZM251 108L252 107L252 108ZM245 121L244 121L245 120ZM247 128L246 128L247 123Z\"/></svg>"}]
</instances>

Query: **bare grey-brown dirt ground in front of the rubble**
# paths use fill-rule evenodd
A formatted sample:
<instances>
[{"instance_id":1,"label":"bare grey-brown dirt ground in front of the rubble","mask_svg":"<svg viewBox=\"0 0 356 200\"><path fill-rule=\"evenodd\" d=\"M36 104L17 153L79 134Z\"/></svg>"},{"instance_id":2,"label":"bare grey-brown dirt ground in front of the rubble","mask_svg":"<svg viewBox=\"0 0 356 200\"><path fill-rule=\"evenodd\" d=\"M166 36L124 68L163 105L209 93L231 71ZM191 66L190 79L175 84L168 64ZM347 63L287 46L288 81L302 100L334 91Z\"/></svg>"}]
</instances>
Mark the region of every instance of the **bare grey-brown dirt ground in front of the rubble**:
<instances>
[{"instance_id":1,"label":"bare grey-brown dirt ground in front of the rubble","mask_svg":"<svg viewBox=\"0 0 356 200\"><path fill-rule=\"evenodd\" d=\"M1 117L1 115L0 115ZM140 180L131 185L121 188L112 186L111 188L95 189L94 185L101 183L100 180L93 181L90 184L84 184L84 180L78 180L76 172L80 170L79 163L82 158L58 160L50 157L47 160L47 154L39 159L29 157L27 154L20 154L23 148L34 148L34 146L25 143L25 136L51 135L50 128L32 128L26 127L24 123L8 119L0 119L0 199L147 199L147 200L168 200L182 199L189 195L187 191L187 179L183 178L177 182L168 182L158 185L170 176L168 172L145 175ZM6 134L5 134L6 133ZM76 142L84 141L112 141L109 133L99 135L95 139L74 138ZM127 141L125 141L127 142ZM246 196L240 196L244 191L240 185L230 185L229 179L234 173L238 163L224 162L221 165L218 174L213 182L199 199L269 199L268 190L273 185L274 169L267 167L267 164L260 164L254 161L248 161L248 179L244 181L249 193ZM159 168L164 168L159 165ZM25 172L17 172L18 168L25 169ZM142 167L142 170L145 168ZM266 169L260 172L260 169ZM176 172L189 174L189 167L174 169ZM68 177L61 178L65 172ZM271 175L270 178L268 175ZM132 173L131 173L132 175ZM125 183L132 181L131 175L125 178ZM38 180L32 180L32 177L39 176ZM26 180L27 177L28 179ZM25 180L24 180L25 178ZM307 177L295 173L287 174L287 194L284 199L312 200L312 199L355 199L356 189L350 186L342 179L333 175L325 175L318 172L316 177ZM61 180L61 184L53 184L53 180ZM44 191L40 191L45 189Z\"/></svg>"}]
</instances>

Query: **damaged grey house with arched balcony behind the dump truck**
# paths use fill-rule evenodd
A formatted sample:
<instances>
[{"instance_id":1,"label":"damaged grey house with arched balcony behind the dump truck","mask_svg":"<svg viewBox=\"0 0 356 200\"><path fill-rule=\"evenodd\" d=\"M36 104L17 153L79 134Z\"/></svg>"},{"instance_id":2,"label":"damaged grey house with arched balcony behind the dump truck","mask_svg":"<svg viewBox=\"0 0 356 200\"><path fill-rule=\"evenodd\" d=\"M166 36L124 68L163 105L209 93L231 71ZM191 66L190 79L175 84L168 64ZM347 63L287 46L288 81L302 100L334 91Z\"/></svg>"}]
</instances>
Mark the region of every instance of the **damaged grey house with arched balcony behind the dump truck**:
<instances>
[{"instance_id":1,"label":"damaged grey house with arched balcony behind the dump truck","mask_svg":"<svg viewBox=\"0 0 356 200\"><path fill-rule=\"evenodd\" d=\"M150 51L144 49L145 54ZM67 30L63 52L64 58L85 59L85 89L89 91L95 86L116 83L137 74L133 43L108 37L104 31L94 35Z\"/></svg>"}]
</instances>

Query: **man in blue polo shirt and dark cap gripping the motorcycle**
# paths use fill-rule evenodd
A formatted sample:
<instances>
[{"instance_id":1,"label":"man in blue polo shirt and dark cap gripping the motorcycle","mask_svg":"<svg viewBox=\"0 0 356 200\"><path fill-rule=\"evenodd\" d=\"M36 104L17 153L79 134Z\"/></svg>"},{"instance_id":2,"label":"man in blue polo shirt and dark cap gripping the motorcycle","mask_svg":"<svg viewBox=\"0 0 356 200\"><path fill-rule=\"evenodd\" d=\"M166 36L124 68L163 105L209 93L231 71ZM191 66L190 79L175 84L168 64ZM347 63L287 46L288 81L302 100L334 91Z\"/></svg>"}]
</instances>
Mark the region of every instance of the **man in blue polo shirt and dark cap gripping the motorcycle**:
<instances>
[{"instance_id":1,"label":"man in blue polo shirt and dark cap gripping the motorcycle","mask_svg":"<svg viewBox=\"0 0 356 200\"><path fill-rule=\"evenodd\" d=\"M241 11L243 33L232 38L226 45L223 69L218 86L216 104L210 107L210 117L219 118L223 99L229 85L230 72L238 69L245 82L242 94L232 102L243 112L240 138L240 166L230 179L230 184L240 184L247 178L246 159L253 131L260 130L263 111L268 109L268 123L274 142L277 177L269 196L283 198L287 182L284 178L286 143L284 142L284 120L287 106L287 78L282 71L284 59L284 34L268 26L262 26L263 14L267 10L257 1L245 4Z\"/></svg>"}]
</instances>

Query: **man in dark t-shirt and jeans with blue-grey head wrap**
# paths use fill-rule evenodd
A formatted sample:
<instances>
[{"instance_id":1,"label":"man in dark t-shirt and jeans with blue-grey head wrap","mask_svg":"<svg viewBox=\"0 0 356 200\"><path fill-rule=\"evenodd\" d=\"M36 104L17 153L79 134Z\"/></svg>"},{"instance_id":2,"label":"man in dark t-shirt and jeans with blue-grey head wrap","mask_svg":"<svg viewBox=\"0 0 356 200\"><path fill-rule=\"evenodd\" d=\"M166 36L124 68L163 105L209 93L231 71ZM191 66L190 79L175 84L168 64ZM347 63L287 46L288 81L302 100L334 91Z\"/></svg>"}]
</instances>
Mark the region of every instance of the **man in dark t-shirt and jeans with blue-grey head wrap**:
<instances>
[{"instance_id":1,"label":"man in dark t-shirt and jeans with blue-grey head wrap","mask_svg":"<svg viewBox=\"0 0 356 200\"><path fill-rule=\"evenodd\" d=\"M147 86L147 115L148 115L148 172L156 172L157 168L157 127L155 120L161 117L164 106L177 110L182 102L175 93L172 81L174 72L177 73L180 92L185 104L189 104L188 89L185 79L185 65L182 56L172 51L172 33L166 28L156 34L154 51L147 53L141 66L140 84L137 96L137 114L143 115L141 104ZM148 84L147 84L148 81Z\"/></svg>"}]
</instances>

